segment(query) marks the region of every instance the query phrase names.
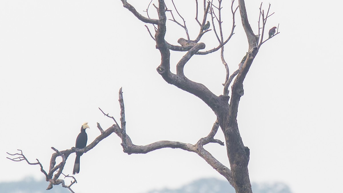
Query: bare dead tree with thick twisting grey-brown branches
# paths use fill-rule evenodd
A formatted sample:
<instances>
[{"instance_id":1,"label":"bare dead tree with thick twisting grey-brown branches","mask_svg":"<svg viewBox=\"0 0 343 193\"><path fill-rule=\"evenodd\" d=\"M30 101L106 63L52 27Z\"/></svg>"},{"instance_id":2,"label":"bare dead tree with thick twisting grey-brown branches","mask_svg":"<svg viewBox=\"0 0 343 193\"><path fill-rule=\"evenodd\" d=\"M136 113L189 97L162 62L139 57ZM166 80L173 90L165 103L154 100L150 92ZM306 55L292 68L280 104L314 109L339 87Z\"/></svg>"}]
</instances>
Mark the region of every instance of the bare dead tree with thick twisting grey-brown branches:
<instances>
[{"instance_id":1,"label":"bare dead tree with thick twisting grey-brown branches","mask_svg":"<svg viewBox=\"0 0 343 193\"><path fill-rule=\"evenodd\" d=\"M232 28L230 34L224 38L223 35L223 27L222 27L222 0L217 0L215 3L214 0L206 2L203 0L203 15L202 20L199 21L199 3L198 0L196 2L196 17L195 20L199 24L199 34L196 38L191 39L189 35L189 31L186 26L186 20L184 17L181 16L180 12L177 10L177 6L173 0L171 3L173 4L174 10L176 11L178 17L182 22L179 22L178 19L174 16L173 11L167 8L164 0L157 0L158 5L152 4L152 6L157 11L158 19L152 19L149 16L149 7L151 7L151 2L146 9L147 17L141 15L137 12L137 10L127 2L127 0L121 0L123 7L128 9L137 19L140 21L152 24L154 27L155 34L153 35L147 25L145 25L147 31L149 32L151 38L156 42L156 48L159 50L161 54L161 64L157 67L157 72L162 76L162 78L168 82L169 84L173 84L174 86L185 90L189 93L200 98L205 104L207 104L214 114L216 115L217 119L214 122L208 136L205 136L198 140L196 144L188 144L182 143L179 141L156 141L149 145L144 146L137 146L132 143L131 138L126 133L126 121L125 121L125 109L124 109L124 101L122 95L122 89L119 90L119 104L120 104L120 126L115 120L114 117L109 116L105 112L103 112L100 108L100 111L107 117L113 119L115 122L114 125L109 127L106 130L103 130L99 123L97 123L97 127L100 131L100 135L88 146L83 149L78 148L71 148L67 150L58 151L54 147L51 147L55 153L52 154L50 159L50 166L48 172L43 169L42 164L37 160L36 163L31 163L28 159L23 155L22 151L16 154L9 154L11 156L19 156L16 158L8 158L12 161L23 161L25 160L28 164L31 165L39 165L40 171L45 175L46 181L49 182L47 190L51 189L53 185L62 184L63 187L68 188L71 192L72 189L70 188L73 184L77 183L76 179L70 175L64 175L62 173L64 165L67 161L67 158L70 154L74 152L82 152L85 153L95 147L101 140L109 136L111 133L116 133L118 137L122 140L122 147L123 151L127 154L146 154L150 151L154 151L156 149L162 148L179 148L186 151L194 152L198 154L201 158L203 158L210 166L212 166L218 173L223 175L227 181L235 188L237 193L251 193L251 184L249 179L249 172L248 172L248 162L249 162L249 154L250 150L248 147L244 146L243 141L239 134L238 124L237 124L237 113L238 113L238 105L241 96L244 94L243 89L243 81L249 71L250 66L254 58L256 57L259 48L261 45L269 40L270 38L263 41L263 35L265 30L265 23L267 19L272 14L269 14L270 4L267 11L267 14L264 15L264 10L262 10L262 3L260 6L260 16L258 21L258 35L255 35L250 27L247 12L245 8L244 0L238 0L238 6L234 7L235 0L232 0L232 4L230 6L230 11L232 13ZM243 57L238 65L238 69L235 70L233 73L230 73L228 64L224 59L224 45L230 40L230 38L234 35L235 29L235 13L239 8L239 13L241 16L241 22L246 33L248 39L248 52ZM179 25L182 29L185 30L187 39L179 38L178 43L180 45L172 45L169 44L165 40L166 34L166 22L167 22L167 15L166 13L170 14L172 21ZM210 20L214 32L214 38L218 41L218 46L209 50L200 51L205 48L205 43L200 42L202 36L212 31L212 29L204 30L205 22L207 21L207 16L210 15ZM260 21L262 21L262 26L260 26ZM279 26L278 26L279 27ZM261 31L262 30L262 31ZM261 31L261 33L260 33ZM277 35L279 32L274 34ZM274 37L272 36L272 37ZM226 70L225 81L223 83L224 90L223 95L216 96L212 93L208 88L206 88L203 84L194 82L189 80L184 74L184 67L188 60L193 55L207 55L213 52L220 50L220 56L222 63ZM185 55L178 61L176 66L176 74L170 71L170 51L177 51L177 52L186 52ZM232 83L233 81L233 83ZM229 96L229 86L231 85L231 97ZM214 136L218 131L218 128L221 128L225 141L221 141L219 139L215 139ZM221 162L215 159L210 152L204 149L204 145L209 143L217 143L222 146L226 146L227 156L230 163L230 168L224 166ZM62 161L56 164L56 158L61 157ZM69 185L64 183L64 180L59 179L60 175L63 175L64 178L72 178Z\"/></svg>"}]
</instances>

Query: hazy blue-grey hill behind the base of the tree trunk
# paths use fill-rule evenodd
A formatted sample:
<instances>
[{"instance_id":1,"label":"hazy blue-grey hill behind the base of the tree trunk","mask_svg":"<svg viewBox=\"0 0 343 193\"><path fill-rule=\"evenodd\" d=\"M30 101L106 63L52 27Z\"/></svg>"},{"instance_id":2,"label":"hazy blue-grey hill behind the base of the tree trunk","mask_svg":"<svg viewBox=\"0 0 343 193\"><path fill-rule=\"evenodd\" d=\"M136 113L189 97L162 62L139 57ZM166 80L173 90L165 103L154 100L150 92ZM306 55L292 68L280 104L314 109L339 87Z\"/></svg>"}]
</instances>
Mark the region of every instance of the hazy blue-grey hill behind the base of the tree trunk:
<instances>
[{"instance_id":1,"label":"hazy blue-grey hill behind the base of the tree trunk","mask_svg":"<svg viewBox=\"0 0 343 193\"><path fill-rule=\"evenodd\" d=\"M292 193L286 184L280 182L252 183L251 186L253 193ZM235 189L227 181L203 178L186 184L179 189L153 190L146 193L235 193Z\"/></svg>"}]
</instances>

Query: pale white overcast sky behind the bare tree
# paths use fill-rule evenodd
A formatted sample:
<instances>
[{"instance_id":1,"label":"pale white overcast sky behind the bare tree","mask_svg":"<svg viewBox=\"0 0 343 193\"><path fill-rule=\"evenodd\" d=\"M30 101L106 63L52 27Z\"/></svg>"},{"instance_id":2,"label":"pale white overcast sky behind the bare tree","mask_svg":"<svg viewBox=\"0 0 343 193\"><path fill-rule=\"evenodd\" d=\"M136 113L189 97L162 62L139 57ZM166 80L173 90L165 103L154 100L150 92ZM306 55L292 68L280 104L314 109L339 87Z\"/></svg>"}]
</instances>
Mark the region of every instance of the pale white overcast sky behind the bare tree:
<instances>
[{"instance_id":1,"label":"pale white overcast sky behind the bare tree","mask_svg":"<svg viewBox=\"0 0 343 193\"><path fill-rule=\"evenodd\" d=\"M144 14L149 0L130 0ZM174 10L167 0L169 9ZM199 32L194 0L175 0L191 38ZM156 3L156 2L155 2ZM257 33L260 1L246 0ZM280 23L279 35L264 43L244 81L238 125L250 148L252 182L281 181L295 193L338 192L342 182L342 5L340 1L264 1L275 12L267 28ZM223 4L224 33L232 25ZM154 9L150 10L155 16ZM176 13L174 13L176 16ZM231 71L247 52L236 14L236 29L225 46ZM152 30L152 27L150 26ZM210 29L213 29L212 26ZM177 44L185 33L167 24L166 39ZM202 42L217 45L213 31ZM184 53L171 53L171 70ZM144 23L119 0L0 1L0 181L27 176L43 179L38 166L12 162L5 152L22 149L48 168L50 147L69 149L83 122L88 144L96 123L119 121L118 90L123 88L127 133L136 145L157 140L196 143L210 131L215 115L192 94L167 84L156 72L160 55ZM186 76L222 94L225 69L219 53L194 56ZM217 138L223 139L220 131ZM123 153L112 134L81 157L76 192L141 193L174 188L202 177L224 179L194 153L162 149L146 155ZM225 147L205 146L229 167ZM72 173L74 155L64 169Z\"/></svg>"}]
</instances>

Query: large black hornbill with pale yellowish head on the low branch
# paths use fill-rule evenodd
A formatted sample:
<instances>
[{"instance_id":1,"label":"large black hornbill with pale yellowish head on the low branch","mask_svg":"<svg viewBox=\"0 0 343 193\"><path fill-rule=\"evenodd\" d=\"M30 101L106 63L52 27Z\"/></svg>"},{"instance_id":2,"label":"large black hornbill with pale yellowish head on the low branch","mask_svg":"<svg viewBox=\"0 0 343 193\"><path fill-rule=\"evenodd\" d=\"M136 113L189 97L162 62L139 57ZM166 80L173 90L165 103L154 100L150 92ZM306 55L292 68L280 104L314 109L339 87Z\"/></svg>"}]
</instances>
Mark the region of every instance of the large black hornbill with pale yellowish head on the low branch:
<instances>
[{"instance_id":1,"label":"large black hornbill with pale yellowish head on the low branch","mask_svg":"<svg viewBox=\"0 0 343 193\"><path fill-rule=\"evenodd\" d=\"M89 128L87 125L88 123L85 122L81 126L81 132L79 133L78 137L76 138L76 148L85 148L87 144L87 134L86 134L86 128ZM83 153L81 152L76 152L76 158L75 158L75 163L74 163L74 170L73 174L79 173L80 172L80 156L82 156Z\"/></svg>"}]
</instances>

